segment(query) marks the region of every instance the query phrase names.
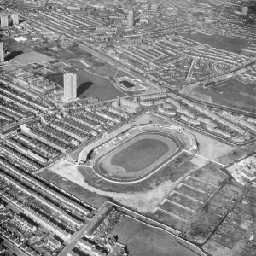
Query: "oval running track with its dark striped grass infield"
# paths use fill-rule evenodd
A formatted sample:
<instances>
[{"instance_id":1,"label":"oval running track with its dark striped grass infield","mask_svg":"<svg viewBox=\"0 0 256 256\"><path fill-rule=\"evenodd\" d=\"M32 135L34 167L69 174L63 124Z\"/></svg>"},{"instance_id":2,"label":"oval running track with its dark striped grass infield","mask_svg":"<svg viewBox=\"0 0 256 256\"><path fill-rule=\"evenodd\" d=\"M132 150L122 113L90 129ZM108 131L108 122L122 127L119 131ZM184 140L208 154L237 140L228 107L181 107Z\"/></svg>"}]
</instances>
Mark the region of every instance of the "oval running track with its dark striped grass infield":
<instances>
[{"instance_id":1,"label":"oval running track with its dark striped grass infield","mask_svg":"<svg viewBox=\"0 0 256 256\"><path fill-rule=\"evenodd\" d=\"M164 132L143 132L100 156L95 171L113 180L141 178L181 152L182 143Z\"/></svg>"}]
</instances>

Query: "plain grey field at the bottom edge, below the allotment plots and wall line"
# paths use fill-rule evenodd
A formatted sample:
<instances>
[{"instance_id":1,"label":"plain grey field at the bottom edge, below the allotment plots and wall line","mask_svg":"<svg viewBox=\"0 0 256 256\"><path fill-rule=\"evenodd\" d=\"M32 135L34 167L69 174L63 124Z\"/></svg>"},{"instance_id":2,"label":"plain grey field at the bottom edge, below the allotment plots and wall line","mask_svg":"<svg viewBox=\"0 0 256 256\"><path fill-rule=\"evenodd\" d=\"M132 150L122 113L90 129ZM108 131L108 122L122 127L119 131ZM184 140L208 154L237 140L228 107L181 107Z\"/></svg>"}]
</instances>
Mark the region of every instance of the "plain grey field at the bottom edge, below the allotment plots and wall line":
<instances>
[{"instance_id":1,"label":"plain grey field at the bottom edge, below the allotment plots and wall line","mask_svg":"<svg viewBox=\"0 0 256 256\"><path fill-rule=\"evenodd\" d=\"M198 256L170 233L124 216L112 230L118 241L127 245L133 256Z\"/></svg>"}]
</instances>

